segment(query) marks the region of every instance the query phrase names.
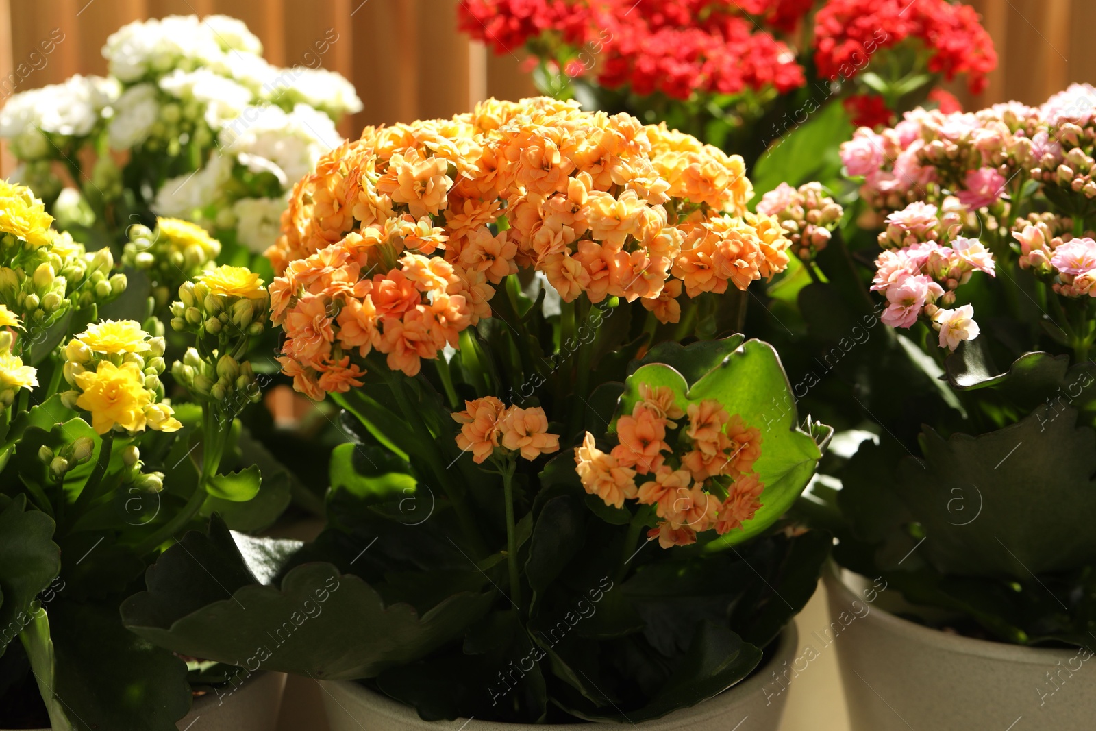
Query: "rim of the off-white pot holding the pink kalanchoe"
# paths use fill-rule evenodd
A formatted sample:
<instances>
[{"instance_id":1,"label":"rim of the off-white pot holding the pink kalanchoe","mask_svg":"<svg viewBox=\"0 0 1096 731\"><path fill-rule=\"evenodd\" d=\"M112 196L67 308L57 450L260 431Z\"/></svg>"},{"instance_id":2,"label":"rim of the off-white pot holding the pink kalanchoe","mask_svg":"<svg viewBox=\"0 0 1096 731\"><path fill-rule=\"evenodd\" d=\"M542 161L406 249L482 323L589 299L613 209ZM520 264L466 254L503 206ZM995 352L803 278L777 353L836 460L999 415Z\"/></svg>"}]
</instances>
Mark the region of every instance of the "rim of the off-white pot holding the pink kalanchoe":
<instances>
[{"instance_id":1,"label":"rim of the off-white pot holding the pink kalanchoe","mask_svg":"<svg viewBox=\"0 0 1096 731\"><path fill-rule=\"evenodd\" d=\"M830 598L841 598L845 602L860 602L864 599L854 594L845 583L842 572L853 575L861 575L855 571L843 568L836 561L832 561L829 569L822 572L822 580L825 582ZM954 632L934 629L918 625L915 621L903 619L886 609L872 606L870 615L878 615L876 621L886 627L894 635L899 635L915 642L922 642L935 648L948 650L964 655L985 658L987 660L1004 660L1016 663L1038 663L1053 665L1057 660L1064 660L1076 654L1076 650L1062 648L1035 648L1025 644L1013 644L1011 642L998 642L995 640L981 640L973 637L964 637Z\"/></svg>"}]
</instances>

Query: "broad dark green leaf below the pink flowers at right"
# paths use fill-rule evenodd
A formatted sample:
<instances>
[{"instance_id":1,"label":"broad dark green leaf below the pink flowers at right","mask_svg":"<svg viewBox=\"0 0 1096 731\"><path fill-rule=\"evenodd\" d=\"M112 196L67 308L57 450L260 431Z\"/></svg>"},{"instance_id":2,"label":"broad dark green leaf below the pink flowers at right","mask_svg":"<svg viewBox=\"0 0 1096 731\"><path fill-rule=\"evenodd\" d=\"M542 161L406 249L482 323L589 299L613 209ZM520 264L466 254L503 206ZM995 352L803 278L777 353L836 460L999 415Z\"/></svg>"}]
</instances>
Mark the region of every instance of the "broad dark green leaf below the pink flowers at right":
<instances>
[{"instance_id":1,"label":"broad dark green leaf below the pink flowers at right","mask_svg":"<svg viewBox=\"0 0 1096 731\"><path fill-rule=\"evenodd\" d=\"M1042 406L980 436L925 429L924 464L904 459L897 488L937 569L1026 579L1096 559L1096 432L1076 419Z\"/></svg>"}]
</instances>

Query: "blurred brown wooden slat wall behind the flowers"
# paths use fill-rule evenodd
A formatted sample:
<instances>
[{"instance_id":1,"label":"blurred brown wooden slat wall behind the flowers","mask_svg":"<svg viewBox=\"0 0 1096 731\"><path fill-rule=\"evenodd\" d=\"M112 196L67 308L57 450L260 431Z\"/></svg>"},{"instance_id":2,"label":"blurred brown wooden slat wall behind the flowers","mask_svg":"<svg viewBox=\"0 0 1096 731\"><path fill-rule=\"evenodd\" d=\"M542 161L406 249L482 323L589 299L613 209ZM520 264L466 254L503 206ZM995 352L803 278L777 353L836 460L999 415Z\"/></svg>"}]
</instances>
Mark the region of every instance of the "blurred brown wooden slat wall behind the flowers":
<instances>
[{"instance_id":1,"label":"blurred brown wooden slat wall behind the flowers","mask_svg":"<svg viewBox=\"0 0 1096 731\"><path fill-rule=\"evenodd\" d=\"M1037 103L1071 81L1096 82L1096 54L1087 46L1096 1L968 1L982 13L1001 56L981 98L960 92L968 107L1008 99ZM366 124L449 116L489 95L534 93L518 68L522 53L494 56L470 43L457 32L455 5L456 0L0 0L0 91L7 94L11 87L3 80L21 65L30 68L31 54L58 31L65 39L44 67L19 81L18 91L77 72L104 73L103 42L129 21L225 13L243 20L262 38L267 60L279 66L308 64L315 43L332 28L339 34L322 65L349 78L365 103L343 124L346 136Z\"/></svg>"}]
</instances>

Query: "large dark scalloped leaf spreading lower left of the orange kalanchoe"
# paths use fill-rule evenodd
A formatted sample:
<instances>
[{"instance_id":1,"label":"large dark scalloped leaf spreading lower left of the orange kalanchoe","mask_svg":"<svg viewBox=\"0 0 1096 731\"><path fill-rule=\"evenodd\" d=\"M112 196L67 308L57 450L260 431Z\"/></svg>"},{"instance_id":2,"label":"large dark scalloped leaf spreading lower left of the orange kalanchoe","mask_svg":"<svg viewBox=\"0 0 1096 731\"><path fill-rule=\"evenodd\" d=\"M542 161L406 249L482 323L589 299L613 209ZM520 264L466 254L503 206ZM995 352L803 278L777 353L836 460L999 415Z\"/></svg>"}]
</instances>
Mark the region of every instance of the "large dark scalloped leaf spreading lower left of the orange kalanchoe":
<instances>
[{"instance_id":1,"label":"large dark scalloped leaf spreading lower left of the orange kalanchoe","mask_svg":"<svg viewBox=\"0 0 1096 731\"><path fill-rule=\"evenodd\" d=\"M126 626L181 654L351 679L427 656L495 597L460 592L420 616L408 604L385 606L365 581L321 562L289 570L279 587L244 583L250 572L230 544L216 522L209 535L186 534L149 570L148 591L123 603ZM227 575L203 578L203 567Z\"/></svg>"}]
</instances>

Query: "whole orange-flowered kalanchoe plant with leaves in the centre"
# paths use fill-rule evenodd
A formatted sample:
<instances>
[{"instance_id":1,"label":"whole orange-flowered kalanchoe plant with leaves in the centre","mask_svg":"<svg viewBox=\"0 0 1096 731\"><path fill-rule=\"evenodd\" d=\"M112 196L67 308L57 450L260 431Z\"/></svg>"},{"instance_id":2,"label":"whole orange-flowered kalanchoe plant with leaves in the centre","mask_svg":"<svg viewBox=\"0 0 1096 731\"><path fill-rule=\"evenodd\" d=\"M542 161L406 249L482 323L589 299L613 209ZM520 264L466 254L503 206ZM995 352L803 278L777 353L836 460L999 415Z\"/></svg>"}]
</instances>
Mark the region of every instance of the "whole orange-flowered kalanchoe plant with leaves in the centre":
<instances>
[{"instance_id":1,"label":"whole orange-flowered kalanchoe plant with leaves in the centre","mask_svg":"<svg viewBox=\"0 0 1096 731\"><path fill-rule=\"evenodd\" d=\"M741 158L543 98L332 152L271 252L283 368L351 437L328 527L214 519L126 625L426 719L638 721L749 675L830 544L781 521L827 430L733 334L791 244L750 195Z\"/></svg>"}]
</instances>

